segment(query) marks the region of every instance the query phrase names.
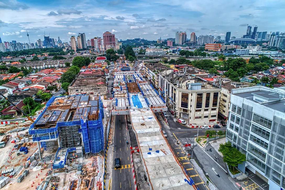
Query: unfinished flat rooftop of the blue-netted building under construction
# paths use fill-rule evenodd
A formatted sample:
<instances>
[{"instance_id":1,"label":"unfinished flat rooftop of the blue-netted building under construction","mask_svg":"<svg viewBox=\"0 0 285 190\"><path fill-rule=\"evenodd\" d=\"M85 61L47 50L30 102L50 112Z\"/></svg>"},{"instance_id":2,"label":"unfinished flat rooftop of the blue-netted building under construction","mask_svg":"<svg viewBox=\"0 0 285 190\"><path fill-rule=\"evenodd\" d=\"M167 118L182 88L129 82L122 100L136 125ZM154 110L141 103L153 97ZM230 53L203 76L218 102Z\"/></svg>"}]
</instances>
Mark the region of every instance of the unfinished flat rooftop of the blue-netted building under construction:
<instances>
[{"instance_id":1,"label":"unfinished flat rooftop of the blue-netted building under construction","mask_svg":"<svg viewBox=\"0 0 285 190\"><path fill-rule=\"evenodd\" d=\"M34 128L44 129L54 127L57 122L79 121L81 116L96 119L98 112L98 100L91 100L89 95L61 96L47 107Z\"/></svg>"}]
</instances>

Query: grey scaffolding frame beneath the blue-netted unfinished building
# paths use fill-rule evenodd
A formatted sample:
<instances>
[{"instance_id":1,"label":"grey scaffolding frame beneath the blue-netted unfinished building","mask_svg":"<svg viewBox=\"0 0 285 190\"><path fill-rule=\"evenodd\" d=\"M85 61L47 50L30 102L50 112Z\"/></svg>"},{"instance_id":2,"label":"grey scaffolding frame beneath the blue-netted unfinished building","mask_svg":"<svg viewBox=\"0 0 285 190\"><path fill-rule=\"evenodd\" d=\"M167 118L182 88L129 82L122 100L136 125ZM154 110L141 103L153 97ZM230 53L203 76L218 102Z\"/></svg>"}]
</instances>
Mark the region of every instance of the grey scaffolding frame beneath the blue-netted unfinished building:
<instances>
[{"instance_id":1,"label":"grey scaffolding frame beneath the blue-netted unfinished building","mask_svg":"<svg viewBox=\"0 0 285 190\"><path fill-rule=\"evenodd\" d=\"M59 137L61 148L72 148L80 145L81 137L78 132L79 128L79 125L60 127Z\"/></svg>"}]
</instances>

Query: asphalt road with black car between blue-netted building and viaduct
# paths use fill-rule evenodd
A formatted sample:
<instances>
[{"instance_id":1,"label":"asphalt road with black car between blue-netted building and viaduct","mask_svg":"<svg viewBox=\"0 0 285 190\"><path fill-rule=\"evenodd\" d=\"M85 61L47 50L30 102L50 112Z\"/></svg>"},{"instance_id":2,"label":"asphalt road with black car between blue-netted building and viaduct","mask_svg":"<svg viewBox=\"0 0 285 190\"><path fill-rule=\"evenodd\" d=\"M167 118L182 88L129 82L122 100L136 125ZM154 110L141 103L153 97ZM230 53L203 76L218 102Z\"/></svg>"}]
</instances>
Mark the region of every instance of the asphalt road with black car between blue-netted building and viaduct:
<instances>
[{"instance_id":1,"label":"asphalt road with black car between blue-netted building and viaduct","mask_svg":"<svg viewBox=\"0 0 285 190\"><path fill-rule=\"evenodd\" d=\"M133 190L135 183L131 162L131 150L126 141L130 141L127 135L126 120L124 115L115 116L114 149L112 167L111 190ZM115 169L115 158L121 159L121 167Z\"/></svg>"}]
</instances>

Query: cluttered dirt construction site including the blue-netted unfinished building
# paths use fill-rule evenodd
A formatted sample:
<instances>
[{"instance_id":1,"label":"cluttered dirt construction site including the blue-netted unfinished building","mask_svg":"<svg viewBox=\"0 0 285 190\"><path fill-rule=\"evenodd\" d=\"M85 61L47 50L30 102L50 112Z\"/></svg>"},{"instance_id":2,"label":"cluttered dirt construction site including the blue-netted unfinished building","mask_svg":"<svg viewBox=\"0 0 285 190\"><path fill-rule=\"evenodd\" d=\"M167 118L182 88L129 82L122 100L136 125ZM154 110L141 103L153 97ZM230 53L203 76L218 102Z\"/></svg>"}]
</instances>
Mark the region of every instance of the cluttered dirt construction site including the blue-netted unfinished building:
<instances>
[{"instance_id":1,"label":"cluttered dirt construction site including the blue-netted unfinished building","mask_svg":"<svg viewBox=\"0 0 285 190\"><path fill-rule=\"evenodd\" d=\"M99 96L53 96L29 120L3 131L0 188L103 189L109 112Z\"/></svg>"}]
</instances>

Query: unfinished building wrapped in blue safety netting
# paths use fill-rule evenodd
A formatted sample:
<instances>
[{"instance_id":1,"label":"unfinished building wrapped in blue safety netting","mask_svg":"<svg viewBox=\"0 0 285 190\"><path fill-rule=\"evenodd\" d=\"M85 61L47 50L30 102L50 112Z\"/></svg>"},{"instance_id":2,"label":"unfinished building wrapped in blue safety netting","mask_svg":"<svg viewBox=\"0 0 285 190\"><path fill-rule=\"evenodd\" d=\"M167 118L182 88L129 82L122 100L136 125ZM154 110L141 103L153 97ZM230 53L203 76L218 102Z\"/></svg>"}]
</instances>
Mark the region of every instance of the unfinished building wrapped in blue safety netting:
<instances>
[{"instance_id":1,"label":"unfinished building wrapped in blue safety netting","mask_svg":"<svg viewBox=\"0 0 285 190\"><path fill-rule=\"evenodd\" d=\"M93 155L104 149L102 118L104 113L100 97L52 97L30 126L29 134L33 142L38 143L38 148L41 145L47 151L58 149L57 154L64 150L66 155L72 151ZM64 167L62 163L66 162L66 158L61 161L54 161L55 169Z\"/></svg>"}]
</instances>

